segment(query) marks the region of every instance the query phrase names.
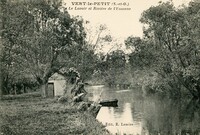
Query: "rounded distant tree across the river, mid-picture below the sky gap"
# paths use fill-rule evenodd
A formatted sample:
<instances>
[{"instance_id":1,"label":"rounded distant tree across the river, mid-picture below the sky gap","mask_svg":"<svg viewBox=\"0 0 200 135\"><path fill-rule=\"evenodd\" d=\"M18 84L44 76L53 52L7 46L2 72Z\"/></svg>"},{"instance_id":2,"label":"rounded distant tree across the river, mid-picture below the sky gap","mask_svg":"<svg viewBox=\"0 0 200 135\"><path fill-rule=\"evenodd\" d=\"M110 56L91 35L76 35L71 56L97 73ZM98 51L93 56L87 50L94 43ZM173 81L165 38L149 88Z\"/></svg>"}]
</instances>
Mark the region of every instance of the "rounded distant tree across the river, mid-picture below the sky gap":
<instances>
[{"instance_id":1,"label":"rounded distant tree across the river, mid-picture below the sky gap","mask_svg":"<svg viewBox=\"0 0 200 135\"><path fill-rule=\"evenodd\" d=\"M97 62L96 74L101 74L106 84L112 86L124 84L127 79L124 76L126 70L126 57L122 50L115 50L102 55Z\"/></svg>"}]
</instances>

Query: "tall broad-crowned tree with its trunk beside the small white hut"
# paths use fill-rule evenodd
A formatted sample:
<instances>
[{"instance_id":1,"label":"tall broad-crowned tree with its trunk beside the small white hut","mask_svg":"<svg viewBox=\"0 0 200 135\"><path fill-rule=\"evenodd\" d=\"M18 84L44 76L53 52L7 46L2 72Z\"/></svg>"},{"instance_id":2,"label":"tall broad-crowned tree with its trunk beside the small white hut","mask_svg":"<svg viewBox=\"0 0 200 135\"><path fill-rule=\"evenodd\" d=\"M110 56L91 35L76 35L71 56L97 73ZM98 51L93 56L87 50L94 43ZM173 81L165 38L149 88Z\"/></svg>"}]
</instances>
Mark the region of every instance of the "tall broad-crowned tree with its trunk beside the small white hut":
<instances>
[{"instance_id":1,"label":"tall broad-crowned tree with its trunk beside the small white hut","mask_svg":"<svg viewBox=\"0 0 200 135\"><path fill-rule=\"evenodd\" d=\"M44 0L7 2L3 17L4 48L11 46L12 62L37 80L45 97L48 78L84 45L82 20L70 17L61 1Z\"/></svg>"}]
</instances>

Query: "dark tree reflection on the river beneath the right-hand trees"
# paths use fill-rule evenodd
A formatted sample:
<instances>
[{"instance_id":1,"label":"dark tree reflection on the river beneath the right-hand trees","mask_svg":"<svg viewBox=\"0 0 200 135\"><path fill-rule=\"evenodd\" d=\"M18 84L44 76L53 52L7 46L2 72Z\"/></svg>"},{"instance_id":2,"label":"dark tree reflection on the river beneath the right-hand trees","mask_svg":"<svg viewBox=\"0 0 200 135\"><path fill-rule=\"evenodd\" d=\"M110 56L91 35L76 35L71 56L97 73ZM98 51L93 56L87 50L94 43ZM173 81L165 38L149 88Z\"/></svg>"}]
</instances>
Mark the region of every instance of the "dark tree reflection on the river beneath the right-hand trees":
<instances>
[{"instance_id":1,"label":"dark tree reflection on the river beneath the right-hand trees","mask_svg":"<svg viewBox=\"0 0 200 135\"><path fill-rule=\"evenodd\" d=\"M188 102L183 101L155 99L149 102L153 104L148 105L146 103L143 112L143 129L147 134L200 134L200 110L199 107L195 107L195 104L188 104ZM188 106L196 109L189 110ZM190 117L191 115L193 118Z\"/></svg>"}]
</instances>

